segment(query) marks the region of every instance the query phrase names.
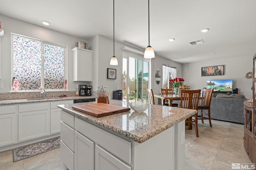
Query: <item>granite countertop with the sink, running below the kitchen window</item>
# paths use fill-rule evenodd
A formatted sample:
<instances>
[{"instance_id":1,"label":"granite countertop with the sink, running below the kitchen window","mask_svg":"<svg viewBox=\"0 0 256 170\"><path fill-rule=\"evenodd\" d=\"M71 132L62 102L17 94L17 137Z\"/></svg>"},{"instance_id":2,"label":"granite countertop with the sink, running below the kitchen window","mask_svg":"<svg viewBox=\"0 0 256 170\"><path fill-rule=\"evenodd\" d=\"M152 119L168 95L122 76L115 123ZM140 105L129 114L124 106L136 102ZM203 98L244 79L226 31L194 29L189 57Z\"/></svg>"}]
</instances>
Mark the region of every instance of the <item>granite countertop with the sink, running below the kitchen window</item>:
<instances>
[{"instance_id":1,"label":"granite countertop with the sink, running below the kitchen window","mask_svg":"<svg viewBox=\"0 0 256 170\"><path fill-rule=\"evenodd\" d=\"M61 100L77 100L77 99L90 99L90 98L98 98L98 97L97 96L69 96L69 97L47 98L46 100L42 100L42 98L0 100L0 105L53 102L53 101L61 101Z\"/></svg>"}]
</instances>

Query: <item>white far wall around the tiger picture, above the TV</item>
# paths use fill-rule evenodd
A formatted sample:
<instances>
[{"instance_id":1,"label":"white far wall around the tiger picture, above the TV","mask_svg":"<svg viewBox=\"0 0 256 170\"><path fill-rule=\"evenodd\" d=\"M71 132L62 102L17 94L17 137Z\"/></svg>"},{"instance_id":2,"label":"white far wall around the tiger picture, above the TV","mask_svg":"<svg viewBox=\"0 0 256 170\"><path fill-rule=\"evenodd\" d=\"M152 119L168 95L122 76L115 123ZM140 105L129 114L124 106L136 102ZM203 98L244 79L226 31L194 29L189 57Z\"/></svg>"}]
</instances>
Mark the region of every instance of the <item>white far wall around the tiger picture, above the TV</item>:
<instances>
[{"instance_id":1,"label":"white far wall around the tiger picture, above the TV","mask_svg":"<svg viewBox=\"0 0 256 170\"><path fill-rule=\"evenodd\" d=\"M247 72L252 71L253 56L235 57L232 59L220 59L188 63L182 65L182 75L184 84L188 84L191 89L202 89L206 87L206 80L233 79L233 89L238 88L239 94L247 99L252 99L252 79L245 78ZM222 76L201 76L201 68L204 66L224 65L224 75Z\"/></svg>"}]
</instances>

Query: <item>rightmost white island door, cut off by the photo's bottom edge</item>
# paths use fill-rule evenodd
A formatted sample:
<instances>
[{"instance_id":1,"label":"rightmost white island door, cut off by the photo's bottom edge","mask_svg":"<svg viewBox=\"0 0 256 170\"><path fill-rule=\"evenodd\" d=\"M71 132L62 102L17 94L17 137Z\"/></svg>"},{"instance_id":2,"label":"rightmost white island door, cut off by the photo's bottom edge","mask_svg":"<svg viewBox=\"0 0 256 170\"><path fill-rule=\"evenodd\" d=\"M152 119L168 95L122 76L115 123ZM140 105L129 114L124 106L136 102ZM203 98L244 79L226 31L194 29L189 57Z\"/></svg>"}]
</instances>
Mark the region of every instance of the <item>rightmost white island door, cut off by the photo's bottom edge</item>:
<instances>
[{"instance_id":1,"label":"rightmost white island door, cut off by the photo's bottom edge","mask_svg":"<svg viewBox=\"0 0 256 170\"><path fill-rule=\"evenodd\" d=\"M132 170L132 167L125 164L102 147L96 145L95 170Z\"/></svg>"}]
</instances>

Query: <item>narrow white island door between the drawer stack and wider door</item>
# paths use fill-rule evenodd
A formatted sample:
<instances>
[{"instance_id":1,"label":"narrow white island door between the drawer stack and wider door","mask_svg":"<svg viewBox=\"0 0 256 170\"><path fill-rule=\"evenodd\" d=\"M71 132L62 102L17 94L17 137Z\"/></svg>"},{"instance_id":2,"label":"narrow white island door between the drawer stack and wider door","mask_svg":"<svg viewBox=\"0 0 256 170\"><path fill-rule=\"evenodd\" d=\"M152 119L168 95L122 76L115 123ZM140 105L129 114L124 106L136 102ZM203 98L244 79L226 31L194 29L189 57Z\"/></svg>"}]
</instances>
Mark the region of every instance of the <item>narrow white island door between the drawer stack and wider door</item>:
<instances>
[{"instance_id":1,"label":"narrow white island door between the drawer stack and wider door","mask_svg":"<svg viewBox=\"0 0 256 170\"><path fill-rule=\"evenodd\" d=\"M75 132L75 170L94 170L94 142Z\"/></svg>"}]
</instances>

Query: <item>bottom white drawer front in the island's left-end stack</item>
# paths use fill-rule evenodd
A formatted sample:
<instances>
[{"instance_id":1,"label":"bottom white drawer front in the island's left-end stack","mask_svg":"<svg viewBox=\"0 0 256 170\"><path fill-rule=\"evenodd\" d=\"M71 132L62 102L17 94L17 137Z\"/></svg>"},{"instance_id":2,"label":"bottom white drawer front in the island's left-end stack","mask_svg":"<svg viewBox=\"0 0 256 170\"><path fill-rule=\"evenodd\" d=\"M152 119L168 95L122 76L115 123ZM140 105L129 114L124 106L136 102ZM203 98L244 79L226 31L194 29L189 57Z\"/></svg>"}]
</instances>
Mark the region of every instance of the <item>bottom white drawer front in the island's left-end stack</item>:
<instances>
[{"instance_id":1,"label":"bottom white drawer front in the island's left-end stack","mask_svg":"<svg viewBox=\"0 0 256 170\"><path fill-rule=\"evenodd\" d=\"M69 170L74 170L74 153L60 140L60 158Z\"/></svg>"}]
</instances>

